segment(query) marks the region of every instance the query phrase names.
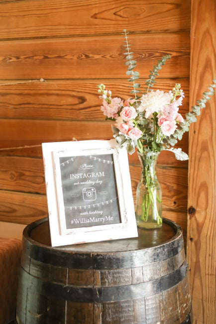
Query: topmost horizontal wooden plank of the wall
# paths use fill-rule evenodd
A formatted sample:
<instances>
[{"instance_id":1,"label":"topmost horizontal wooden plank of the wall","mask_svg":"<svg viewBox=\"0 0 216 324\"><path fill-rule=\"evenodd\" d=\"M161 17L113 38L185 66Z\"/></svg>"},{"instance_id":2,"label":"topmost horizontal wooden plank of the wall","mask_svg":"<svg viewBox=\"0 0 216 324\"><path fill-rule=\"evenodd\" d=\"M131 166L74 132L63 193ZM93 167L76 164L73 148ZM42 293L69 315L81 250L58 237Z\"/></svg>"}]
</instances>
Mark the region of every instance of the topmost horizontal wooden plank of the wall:
<instances>
[{"instance_id":1,"label":"topmost horizontal wooden plank of the wall","mask_svg":"<svg viewBox=\"0 0 216 324\"><path fill-rule=\"evenodd\" d=\"M190 29L190 1L38 0L1 3L1 39ZM172 19L170 19L172 17Z\"/></svg>"}]
</instances>

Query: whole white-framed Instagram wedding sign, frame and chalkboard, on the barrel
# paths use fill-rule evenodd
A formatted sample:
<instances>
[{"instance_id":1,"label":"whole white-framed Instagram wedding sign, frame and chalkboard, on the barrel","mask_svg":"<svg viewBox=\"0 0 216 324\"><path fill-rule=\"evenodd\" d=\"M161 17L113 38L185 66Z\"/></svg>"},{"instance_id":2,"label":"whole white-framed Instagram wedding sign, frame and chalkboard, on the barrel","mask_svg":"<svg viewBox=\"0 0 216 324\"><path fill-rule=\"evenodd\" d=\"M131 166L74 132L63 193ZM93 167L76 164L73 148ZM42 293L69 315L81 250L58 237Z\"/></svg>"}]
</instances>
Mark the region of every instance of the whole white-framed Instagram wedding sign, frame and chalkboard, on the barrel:
<instances>
[{"instance_id":1,"label":"whole white-framed Instagram wedding sign, frame and chalkboard, on the barrel","mask_svg":"<svg viewBox=\"0 0 216 324\"><path fill-rule=\"evenodd\" d=\"M52 246L138 236L127 151L114 139L42 151Z\"/></svg>"}]
</instances>

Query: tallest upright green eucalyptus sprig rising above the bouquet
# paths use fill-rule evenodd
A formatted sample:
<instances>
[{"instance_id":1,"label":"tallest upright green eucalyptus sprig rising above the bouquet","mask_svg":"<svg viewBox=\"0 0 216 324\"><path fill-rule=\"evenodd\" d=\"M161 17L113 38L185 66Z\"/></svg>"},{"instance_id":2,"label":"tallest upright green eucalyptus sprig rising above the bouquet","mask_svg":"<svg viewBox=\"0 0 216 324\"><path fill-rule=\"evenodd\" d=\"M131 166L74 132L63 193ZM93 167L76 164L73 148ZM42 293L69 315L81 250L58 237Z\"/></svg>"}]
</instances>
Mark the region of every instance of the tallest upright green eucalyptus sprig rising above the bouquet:
<instances>
[{"instance_id":1,"label":"tallest upright green eucalyptus sprig rising above the bouquet","mask_svg":"<svg viewBox=\"0 0 216 324\"><path fill-rule=\"evenodd\" d=\"M126 55L126 63L125 65L127 65L127 75L131 75L131 77L129 79L127 79L129 82L133 82L132 88L133 90L130 91L130 93L134 94L135 100L137 102L137 100L139 99L139 97L136 95L137 93L140 92L140 90L138 90L138 88L140 87L139 83L136 83L135 80L139 79L139 72L133 71L133 69L136 67L136 61L133 60L133 52L131 52L130 50L130 44L128 41L128 37L127 37L127 32L126 29L123 29L123 35L125 38L125 45L124 47L126 48L126 52L124 53Z\"/></svg>"}]
</instances>

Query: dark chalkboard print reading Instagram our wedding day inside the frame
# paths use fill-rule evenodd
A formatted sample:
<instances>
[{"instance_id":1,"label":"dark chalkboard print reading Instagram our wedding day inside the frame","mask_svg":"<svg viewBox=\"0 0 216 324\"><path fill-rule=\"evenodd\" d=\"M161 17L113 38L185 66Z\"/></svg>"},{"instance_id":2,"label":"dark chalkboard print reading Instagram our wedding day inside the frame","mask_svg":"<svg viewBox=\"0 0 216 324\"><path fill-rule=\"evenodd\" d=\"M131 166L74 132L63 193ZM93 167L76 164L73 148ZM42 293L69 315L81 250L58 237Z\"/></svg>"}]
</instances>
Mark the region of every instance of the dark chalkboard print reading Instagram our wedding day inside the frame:
<instances>
[{"instance_id":1,"label":"dark chalkboard print reading Instagram our wedding day inside the frame","mask_svg":"<svg viewBox=\"0 0 216 324\"><path fill-rule=\"evenodd\" d=\"M66 228L120 223L112 154L59 157Z\"/></svg>"}]
</instances>

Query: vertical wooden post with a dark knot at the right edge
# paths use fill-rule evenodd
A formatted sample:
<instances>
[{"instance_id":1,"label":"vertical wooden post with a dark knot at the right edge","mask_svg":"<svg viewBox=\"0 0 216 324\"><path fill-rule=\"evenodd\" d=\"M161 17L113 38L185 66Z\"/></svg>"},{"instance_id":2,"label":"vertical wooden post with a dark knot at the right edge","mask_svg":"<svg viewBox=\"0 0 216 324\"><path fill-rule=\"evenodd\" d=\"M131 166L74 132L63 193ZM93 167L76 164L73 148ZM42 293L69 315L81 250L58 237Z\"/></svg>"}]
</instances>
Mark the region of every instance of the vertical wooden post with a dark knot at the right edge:
<instances>
[{"instance_id":1,"label":"vertical wooden post with a dark knot at the right edge","mask_svg":"<svg viewBox=\"0 0 216 324\"><path fill-rule=\"evenodd\" d=\"M205 15L203 14L205 12ZM192 0L191 104L216 76L216 1ZM216 323L216 96L189 137L188 262L195 324Z\"/></svg>"}]
</instances>

